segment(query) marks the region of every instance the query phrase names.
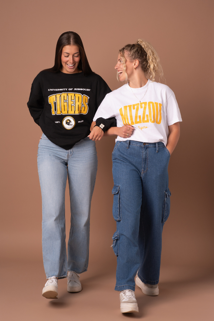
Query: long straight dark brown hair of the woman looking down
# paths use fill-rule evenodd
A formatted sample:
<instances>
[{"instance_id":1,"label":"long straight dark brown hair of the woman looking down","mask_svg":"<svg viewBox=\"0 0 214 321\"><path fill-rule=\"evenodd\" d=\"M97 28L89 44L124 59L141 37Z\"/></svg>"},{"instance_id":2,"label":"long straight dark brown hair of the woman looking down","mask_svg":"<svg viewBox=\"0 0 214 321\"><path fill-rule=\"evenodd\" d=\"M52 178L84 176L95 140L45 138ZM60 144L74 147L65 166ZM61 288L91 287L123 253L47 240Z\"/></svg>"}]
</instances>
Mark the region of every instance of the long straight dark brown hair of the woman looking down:
<instances>
[{"instance_id":1,"label":"long straight dark brown hair of the woman looking down","mask_svg":"<svg viewBox=\"0 0 214 321\"><path fill-rule=\"evenodd\" d=\"M85 54L85 49L82 44L80 36L74 31L66 31L61 34L56 44L55 62L52 68L45 70L51 71L52 73L58 73L62 69L61 55L64 46L77 46L80 49L81 59L78 64L80 69L85 76L92 73L88 59Z\"/></svg>"}]
</instances>

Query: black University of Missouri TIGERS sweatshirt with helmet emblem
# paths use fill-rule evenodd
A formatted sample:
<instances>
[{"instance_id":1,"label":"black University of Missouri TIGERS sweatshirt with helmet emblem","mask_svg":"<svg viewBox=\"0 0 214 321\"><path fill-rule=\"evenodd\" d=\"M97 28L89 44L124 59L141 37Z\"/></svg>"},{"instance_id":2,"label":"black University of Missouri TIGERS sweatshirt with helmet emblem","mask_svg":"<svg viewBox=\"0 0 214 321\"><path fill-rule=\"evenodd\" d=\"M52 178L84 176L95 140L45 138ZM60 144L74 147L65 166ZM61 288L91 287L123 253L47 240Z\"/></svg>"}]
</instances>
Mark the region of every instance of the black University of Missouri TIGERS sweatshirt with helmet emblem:
<instances>
[{"instance_id":1,"label":"black University of Missouri TIGERS sweatshirt with helmet emblem","mask_svg":"<svg viewBox=\"0 0 214 321\"><path fill-rule=\"evenodd\" d=\"M44 70L32 83L27 105L47 138L67 150L90 134L93 117L109 92L111 89L98 74ZM103 130L116 126L114 120L102 118Z\"/></svg>"}]
</instances>

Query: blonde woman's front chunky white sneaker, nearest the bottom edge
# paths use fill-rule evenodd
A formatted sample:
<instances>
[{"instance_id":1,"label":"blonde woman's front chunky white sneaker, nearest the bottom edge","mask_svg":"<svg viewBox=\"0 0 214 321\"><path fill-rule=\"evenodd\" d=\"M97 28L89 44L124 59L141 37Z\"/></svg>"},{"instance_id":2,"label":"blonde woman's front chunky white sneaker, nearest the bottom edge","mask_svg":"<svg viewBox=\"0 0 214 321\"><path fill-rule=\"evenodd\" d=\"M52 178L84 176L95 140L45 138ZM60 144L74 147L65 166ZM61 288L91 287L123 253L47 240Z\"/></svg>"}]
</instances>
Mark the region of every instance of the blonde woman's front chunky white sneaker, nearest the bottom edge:
<instances>
[{"instance_id":1,"label":"blonde woman's front chunky white sneaker, nearest the bottom edge","mask_svg":"<svg viewBox=\"0 0 214 321\"><path fill-rule=\"evenodd\" d=\"M138 312L137 300L134 291L124 290L120 292L120 312Z\"/></svg>"}]
</instances>

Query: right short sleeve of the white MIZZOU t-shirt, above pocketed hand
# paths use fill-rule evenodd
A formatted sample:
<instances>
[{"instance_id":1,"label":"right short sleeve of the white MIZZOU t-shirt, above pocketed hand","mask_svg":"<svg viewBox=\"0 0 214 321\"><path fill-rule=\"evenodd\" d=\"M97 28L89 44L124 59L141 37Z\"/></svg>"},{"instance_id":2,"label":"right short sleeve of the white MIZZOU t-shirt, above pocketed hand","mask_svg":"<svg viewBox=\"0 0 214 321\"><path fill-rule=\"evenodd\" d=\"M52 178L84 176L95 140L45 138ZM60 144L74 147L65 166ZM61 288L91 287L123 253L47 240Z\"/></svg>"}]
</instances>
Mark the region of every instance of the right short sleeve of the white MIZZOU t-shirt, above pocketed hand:
<instances>
[{"instance_id":1,"label":"right short sleeve of the white MIZZOU t-shirt, above pocketed hand","mask_svg":"<svg viewBox=\"0 0 214 321\"><path fill-rule=\"evenodd\" d=\"M167 99L167 125L173 125L181 119L181 113L178 107L174 92Z\"/></svg>"}]
</instances>

